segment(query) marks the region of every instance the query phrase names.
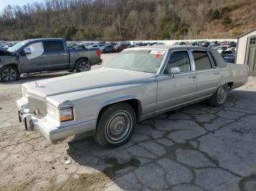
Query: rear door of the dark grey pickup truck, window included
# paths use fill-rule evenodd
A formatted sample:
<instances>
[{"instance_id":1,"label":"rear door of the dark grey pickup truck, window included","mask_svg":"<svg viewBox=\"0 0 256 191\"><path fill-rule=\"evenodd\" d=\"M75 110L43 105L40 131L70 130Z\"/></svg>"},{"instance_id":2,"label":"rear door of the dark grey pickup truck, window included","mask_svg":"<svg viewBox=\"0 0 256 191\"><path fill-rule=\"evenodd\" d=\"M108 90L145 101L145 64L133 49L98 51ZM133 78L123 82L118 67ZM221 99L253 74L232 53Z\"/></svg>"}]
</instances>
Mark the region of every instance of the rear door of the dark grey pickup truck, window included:
<instances>
[{"instance_id":1,"label":"rear door of the dark grey pickup truck, window included","mask_svg":"<svg viewBox=\"0 0 256 191\"><path fill-rule=\"evenodd\" d=\"M69 66L69 55L64 42L52 40L43 42L44 53L41 56L45 60L46 71L64 70Z\"/></svg>"}]
</instances>

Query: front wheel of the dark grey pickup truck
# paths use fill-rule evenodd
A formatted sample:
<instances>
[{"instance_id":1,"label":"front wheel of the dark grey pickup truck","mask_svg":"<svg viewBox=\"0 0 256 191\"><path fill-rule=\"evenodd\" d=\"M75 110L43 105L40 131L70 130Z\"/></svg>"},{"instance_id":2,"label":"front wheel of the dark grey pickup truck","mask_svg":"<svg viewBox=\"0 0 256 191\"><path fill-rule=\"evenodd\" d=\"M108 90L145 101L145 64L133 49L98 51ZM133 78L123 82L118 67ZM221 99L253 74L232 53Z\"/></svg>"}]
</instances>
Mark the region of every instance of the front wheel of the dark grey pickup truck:
<instances>
[{"instance_id":1,"label":"front wheel of the dark grey pickup truck","mask_svg":"<svg viewBox=\"0 0 256 191\"><path fill-rule=\"evenodd\" d=\"M14 66L4 66L0 77L2 82L14 82L19 79L20 74Z\"/></svg>"}]
</instances>

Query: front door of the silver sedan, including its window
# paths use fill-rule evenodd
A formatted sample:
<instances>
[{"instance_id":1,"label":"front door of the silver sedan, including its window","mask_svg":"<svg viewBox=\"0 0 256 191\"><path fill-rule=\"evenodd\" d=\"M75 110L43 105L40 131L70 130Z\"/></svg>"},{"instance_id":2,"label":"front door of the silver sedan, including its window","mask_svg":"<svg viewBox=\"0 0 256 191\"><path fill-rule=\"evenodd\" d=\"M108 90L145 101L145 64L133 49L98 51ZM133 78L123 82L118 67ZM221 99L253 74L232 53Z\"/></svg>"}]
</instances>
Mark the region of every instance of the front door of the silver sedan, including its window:
<instances>
[{"instance_id":1,"label":"front door of the silver sedan, including its window","mask_svg":"<svg viewBox=\"0 0 256 191\"><path fill-rule=\"evenodd\" d=\"M179 73L171 74L172 68ZM157 77L157 110L170 109L195 99L196 73L187 50L178 50L170 55L165 71Z\"/></svg>"}]
</instances>

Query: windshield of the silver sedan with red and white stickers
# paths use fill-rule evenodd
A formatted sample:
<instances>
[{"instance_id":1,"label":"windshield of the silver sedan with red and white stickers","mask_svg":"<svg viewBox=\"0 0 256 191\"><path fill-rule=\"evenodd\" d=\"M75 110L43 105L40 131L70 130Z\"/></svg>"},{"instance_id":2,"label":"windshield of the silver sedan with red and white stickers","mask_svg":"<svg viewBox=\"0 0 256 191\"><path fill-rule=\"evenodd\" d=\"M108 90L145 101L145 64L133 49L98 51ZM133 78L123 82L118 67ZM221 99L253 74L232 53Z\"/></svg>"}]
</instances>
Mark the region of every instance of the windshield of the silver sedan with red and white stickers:
<instances>
[{"instance_id":1,"label":"windshield of the silver sedan with red and white stickers","mask_svg":"<svg viewBox=\"0 0 256 191\"><path fill-rule=\"evenodd\" d=\"M119 53L105 67L155 74L165 57L165 52L165 50L126 50Z\"/></svg>"}]
</instances>

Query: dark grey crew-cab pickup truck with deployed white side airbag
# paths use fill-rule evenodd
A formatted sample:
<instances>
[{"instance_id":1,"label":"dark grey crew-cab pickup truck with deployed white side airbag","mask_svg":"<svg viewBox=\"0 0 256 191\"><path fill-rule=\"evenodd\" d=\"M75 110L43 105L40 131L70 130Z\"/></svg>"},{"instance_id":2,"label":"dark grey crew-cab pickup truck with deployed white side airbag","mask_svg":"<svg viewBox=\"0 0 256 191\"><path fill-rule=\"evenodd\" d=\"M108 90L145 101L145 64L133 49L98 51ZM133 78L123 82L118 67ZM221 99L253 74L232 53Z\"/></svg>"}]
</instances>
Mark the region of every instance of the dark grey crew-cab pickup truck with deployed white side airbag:
<instances>
[{"instance_id":1,"label":"dark grey crew-cab pickup truck with deployed white side airbag","mask_svg":"<svg viewBox=\"0 0 256 191\"><path fill-rule=\"evenodd\" d=\"M4 82L39 71L89 71L91 65L102 63L99 49L68 49L64 39L29 39L1 54L0 77Z\"/></svg>"}]
</instances>

